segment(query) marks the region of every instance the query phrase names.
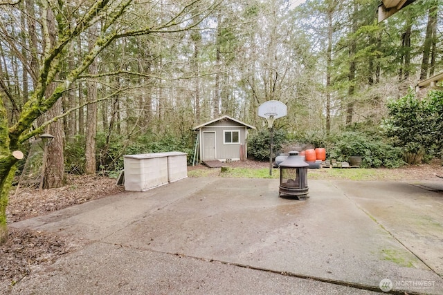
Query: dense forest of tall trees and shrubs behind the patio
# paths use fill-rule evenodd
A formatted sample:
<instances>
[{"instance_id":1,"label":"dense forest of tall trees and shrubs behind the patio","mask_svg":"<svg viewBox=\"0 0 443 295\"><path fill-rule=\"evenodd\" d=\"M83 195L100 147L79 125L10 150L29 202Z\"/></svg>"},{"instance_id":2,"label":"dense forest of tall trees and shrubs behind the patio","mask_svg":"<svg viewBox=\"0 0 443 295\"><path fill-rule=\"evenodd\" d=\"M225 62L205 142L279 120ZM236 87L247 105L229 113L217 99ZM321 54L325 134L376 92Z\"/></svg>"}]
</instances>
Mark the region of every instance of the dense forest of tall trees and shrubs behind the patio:
<instances>
[{"instance_id":1,"label":"dense forest of tall trees and shrubs behind the patio","mask_svg":"<svg viewBox=\"0 0 443 295\"><path fill-rule=\"evenodd\" d=\"M377 23L379 4L2 1L0 225L45 132L47 188L66 173L120 171L125 154L192 155L192 127L221 115L257 126L249 150L260 158L253 143L269 132L257 106L271 99L288 106L277 144L360 153L366 166L440 156L442 91L415 86L443 70L443 3Z\"/></svg>"}]
</instances>

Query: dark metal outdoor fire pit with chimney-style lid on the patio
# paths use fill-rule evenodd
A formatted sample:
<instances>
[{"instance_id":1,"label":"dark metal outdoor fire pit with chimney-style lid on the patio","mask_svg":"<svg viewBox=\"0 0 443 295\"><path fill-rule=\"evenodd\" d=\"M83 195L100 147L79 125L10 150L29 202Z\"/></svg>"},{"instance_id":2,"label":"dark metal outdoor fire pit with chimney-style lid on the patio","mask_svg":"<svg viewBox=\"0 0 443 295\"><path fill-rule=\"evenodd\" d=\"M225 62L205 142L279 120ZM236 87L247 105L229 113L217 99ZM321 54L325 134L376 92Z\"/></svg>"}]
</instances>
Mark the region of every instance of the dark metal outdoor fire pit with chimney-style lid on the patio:
<instances>
[{"instance_id":1,"label":"dark metal outdoor fire pit with chimney-style lid on the patio","mask_svg":"<svg viewBox=\"0 0 443 295\"><path fill-rule=\"evenodd\" d=\"M280 197L306 200L308 166L309 164L298 155L298 151L289 152L289 157L280 163Z\"/></svg>"}]
</instances>

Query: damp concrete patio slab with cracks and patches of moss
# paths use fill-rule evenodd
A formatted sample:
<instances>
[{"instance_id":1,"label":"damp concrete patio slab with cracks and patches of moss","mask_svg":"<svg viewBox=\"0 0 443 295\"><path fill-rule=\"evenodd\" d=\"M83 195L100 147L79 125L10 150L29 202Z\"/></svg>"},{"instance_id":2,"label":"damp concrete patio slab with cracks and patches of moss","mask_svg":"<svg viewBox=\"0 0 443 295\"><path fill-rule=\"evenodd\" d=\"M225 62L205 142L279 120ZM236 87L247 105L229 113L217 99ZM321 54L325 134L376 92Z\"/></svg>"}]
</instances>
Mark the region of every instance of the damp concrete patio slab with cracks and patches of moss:
<instances>
[{"instance_id":1,"label":"damp concrete patio slab with cracks and patches of moss","mask_svg":"<svg viewBox=\"0 0 443 295\"><path fill-rule=\"evenodd\" d=\"M309 180L299 201L275 179L186 178L120 193L10 225L88 240L12 294L443 294L440 188Z\"/></svg>"}]
</instances>

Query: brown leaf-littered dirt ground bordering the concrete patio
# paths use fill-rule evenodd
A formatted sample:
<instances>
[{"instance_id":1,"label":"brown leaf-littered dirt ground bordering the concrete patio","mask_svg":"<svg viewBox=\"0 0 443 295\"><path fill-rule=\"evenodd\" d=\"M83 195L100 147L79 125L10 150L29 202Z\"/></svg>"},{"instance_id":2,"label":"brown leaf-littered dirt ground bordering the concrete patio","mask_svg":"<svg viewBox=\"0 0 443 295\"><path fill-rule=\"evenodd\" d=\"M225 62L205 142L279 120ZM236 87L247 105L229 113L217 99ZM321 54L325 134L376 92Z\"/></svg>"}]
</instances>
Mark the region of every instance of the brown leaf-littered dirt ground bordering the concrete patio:
<instances>
[{"instance_id":1,"label":"brown leaf-littered dirt ground bordering the concrete patio","mask_svg":"<svg viewBox=\"0 0 443 295\"><path fill-rule=\"evenodd\" d=\"M269 167L269 162L248 160L226 163L225 166L256 169ZM188 167L188 170L195 169L209 168L203 165ZM443 169L440 161L434 161L431 164L390 169L390 173L404 180L440 180ZM105 198L124 190L116 185L115 179L91 175L71 175L67 183L58 189L39 191L38 188L26 187L12 190L7 207L8 223ZM58 257L79 249L85 242L56 234L10 228L8 241L0 245L0 292L15 285L33 269L53 263Z\"/></svg>"}]
</instances>

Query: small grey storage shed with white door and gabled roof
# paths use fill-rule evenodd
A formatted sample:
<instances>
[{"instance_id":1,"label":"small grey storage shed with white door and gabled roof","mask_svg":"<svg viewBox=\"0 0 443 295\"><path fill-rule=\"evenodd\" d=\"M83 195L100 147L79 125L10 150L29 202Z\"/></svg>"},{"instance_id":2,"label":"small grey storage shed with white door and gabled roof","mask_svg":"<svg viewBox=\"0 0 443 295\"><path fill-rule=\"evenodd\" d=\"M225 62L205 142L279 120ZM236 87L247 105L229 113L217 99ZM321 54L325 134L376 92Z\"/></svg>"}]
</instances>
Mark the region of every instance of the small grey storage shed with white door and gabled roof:
<instances>
[{"instance_id":1,"label":"small grey storage shed with white door and gabled roof","mask_svg":"<svg viewBox=\"0 0 443 295\"><path fill-rule=\"evenodd\" d=\"M198 131L199 158L203 162L246 160L248 129L255 127L228 115L195 126L194 131Z\"/></svg>"}]
</instances>

